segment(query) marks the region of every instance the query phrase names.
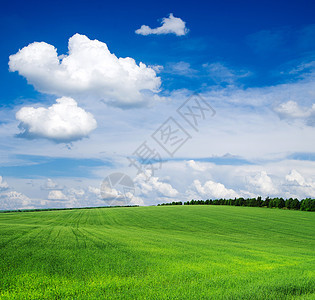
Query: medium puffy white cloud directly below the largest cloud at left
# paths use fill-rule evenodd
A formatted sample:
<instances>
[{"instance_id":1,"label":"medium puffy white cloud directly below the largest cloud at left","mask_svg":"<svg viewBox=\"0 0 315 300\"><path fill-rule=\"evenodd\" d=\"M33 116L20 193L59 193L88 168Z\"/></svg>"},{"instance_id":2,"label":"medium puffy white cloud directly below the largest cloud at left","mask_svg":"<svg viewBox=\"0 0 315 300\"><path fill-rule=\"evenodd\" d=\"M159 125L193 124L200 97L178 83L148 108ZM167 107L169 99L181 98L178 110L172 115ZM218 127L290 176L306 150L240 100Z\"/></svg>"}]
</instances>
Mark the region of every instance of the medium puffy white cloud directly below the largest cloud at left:
<instances>
[{"instance_id":1,"label":"medium puffy white cloud directly below the largest cloud at left","mask_svg":"<svg viewBox=\"0 0 315 300\"><path fill-rule=\"evenodd\" d=\"M93 115L78 107L74 99L62 97L56 102L48 108L21 108L16 113L23 130L20 136L71 142L87 137L97 127Z\"/></svg>"}]
</instances>

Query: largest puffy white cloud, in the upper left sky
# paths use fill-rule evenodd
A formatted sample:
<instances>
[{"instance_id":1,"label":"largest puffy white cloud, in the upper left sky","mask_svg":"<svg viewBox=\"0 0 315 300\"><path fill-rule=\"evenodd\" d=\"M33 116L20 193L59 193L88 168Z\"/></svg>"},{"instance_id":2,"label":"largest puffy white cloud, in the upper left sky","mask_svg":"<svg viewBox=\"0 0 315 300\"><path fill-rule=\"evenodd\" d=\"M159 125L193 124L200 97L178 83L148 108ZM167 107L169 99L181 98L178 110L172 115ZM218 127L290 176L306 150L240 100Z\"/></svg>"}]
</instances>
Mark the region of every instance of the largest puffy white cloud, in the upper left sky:
<instances>
[{"instance_id":1,"label":"largest puffy white cloud, in the upper left sky","mask_svg":"<svg viewBox=\"0 0 315 300\"><path fill-rule=\"evenodd\" d=\"M75 34L69 39L69 54L58 56L45 42L34 42L11 55L10 71L18 71L34 87L58 96L103 99L117 106L146 103L158 92L156 72L133 58L117 58L107 45Z\"/></svg>"}]
</instances>

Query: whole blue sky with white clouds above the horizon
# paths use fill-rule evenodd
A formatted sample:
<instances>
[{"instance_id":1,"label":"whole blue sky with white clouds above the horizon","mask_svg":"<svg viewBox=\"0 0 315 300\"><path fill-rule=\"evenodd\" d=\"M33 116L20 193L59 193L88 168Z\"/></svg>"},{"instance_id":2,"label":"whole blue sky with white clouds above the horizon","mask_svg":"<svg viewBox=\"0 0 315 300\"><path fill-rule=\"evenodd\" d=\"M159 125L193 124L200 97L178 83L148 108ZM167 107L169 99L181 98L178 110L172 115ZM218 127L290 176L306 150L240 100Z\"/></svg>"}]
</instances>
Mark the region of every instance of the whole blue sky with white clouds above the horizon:
<instances>
[{"instance_id":1,"label":"whole blue sky with white clouds above the horizon","mask_svg":"<svg viewBox=\"0 0 315 300\"><path fill-rule=\"evenodd\" d=\"M1 1L0 210L314 197L314 1Z\"/></svg>"}]
</instances>

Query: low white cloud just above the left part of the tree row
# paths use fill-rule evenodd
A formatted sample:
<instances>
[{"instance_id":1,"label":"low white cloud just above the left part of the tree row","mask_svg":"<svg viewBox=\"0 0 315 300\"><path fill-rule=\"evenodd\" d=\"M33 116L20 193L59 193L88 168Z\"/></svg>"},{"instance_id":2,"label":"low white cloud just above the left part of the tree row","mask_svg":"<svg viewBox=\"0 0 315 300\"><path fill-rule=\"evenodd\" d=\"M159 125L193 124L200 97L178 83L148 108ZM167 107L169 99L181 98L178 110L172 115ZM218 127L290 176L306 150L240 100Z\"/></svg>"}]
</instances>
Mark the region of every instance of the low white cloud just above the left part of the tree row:
<instances>
[{"instance_id":1,"label":"low white cloud just above the left part of the tree row","mask_svg":"<svg viewBox=\"0 0 315 300\"><path fill-rule=\"evenodd\" d=\"M193 185L201 196L207 197L209 199L238 197L234 190L228 189L224 186L224 184L214 182L212 180L208 180L204 185L202 185L201 182L196 179L194 180Z\"/></svg>"}]
</instances>

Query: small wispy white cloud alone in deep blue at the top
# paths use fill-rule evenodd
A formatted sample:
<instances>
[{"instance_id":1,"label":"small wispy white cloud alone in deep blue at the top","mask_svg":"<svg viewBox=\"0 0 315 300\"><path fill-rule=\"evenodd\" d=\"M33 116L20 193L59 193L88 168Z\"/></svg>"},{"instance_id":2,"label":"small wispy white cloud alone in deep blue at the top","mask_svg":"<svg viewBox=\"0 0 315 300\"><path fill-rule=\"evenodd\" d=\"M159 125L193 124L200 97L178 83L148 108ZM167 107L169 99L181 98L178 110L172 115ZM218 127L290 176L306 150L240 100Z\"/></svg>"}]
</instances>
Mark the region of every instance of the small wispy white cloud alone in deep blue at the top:
<instances>
[{"instance_id":1,"label":"small wispy white cloud alone in deep blue at the top","mask_svg":"<svg viewBox=\"0 0 315 300\"><path fill-rule=\"evenodd\" d=\"M135 32L136 34L149 35L149 34L176 34L177 36L186 35L188 29L186 23L181 18L176 18L171 13L168 18L163 18L161 22L162 26L157 28L150 28L147 25L142 25Z\"/></svg>"}]
</instances>

